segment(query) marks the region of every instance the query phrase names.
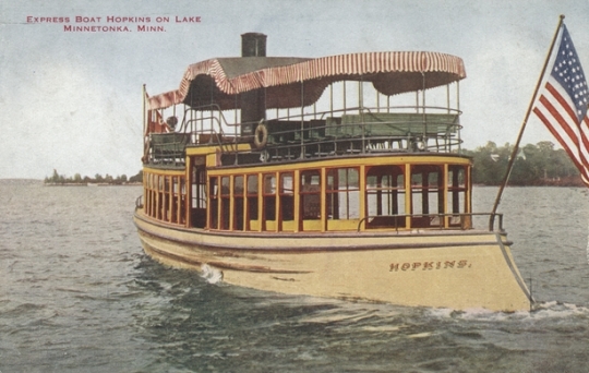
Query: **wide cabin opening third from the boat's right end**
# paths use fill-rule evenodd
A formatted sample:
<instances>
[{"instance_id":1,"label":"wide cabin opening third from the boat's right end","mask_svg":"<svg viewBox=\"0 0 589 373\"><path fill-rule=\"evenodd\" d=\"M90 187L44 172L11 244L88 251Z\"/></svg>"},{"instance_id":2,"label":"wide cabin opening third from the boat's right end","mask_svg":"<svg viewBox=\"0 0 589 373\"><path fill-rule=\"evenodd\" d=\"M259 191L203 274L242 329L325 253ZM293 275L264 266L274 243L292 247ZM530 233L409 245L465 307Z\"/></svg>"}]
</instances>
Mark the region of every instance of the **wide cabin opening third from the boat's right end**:
<instances>
[{"instance_id":1,"label":"wide cabin opening third from the boat's right end","mask_svg":"<svg viewBox=\"0 0 589 373\"><path fill-rule=\"evenodd\" d=\"M366 227L406 226L405 167L374 166L366 170ZM397 216L400 215L400 216Z\"/></svg>"}]
</instances>

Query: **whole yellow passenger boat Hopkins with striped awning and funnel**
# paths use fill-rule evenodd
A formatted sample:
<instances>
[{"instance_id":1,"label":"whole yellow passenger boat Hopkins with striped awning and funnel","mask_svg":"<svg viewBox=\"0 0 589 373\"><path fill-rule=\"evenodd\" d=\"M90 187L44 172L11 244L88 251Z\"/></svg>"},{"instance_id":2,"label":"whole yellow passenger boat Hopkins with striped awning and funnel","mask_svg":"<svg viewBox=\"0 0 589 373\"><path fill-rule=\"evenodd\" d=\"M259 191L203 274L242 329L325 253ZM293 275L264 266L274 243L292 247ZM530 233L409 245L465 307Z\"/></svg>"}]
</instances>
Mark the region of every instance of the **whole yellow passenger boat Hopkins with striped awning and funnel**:
<instances>
[{"instance_id":1,"label":"whole yellow passenger boat Hopkins with striped awning and funnel","mask_svg":"<svg viewBox=\"0 0 589 373\"><path fill-rule=\"evenodd\" d=\"M501 214L472 212L464 61L241 56L144 86L144 251L212 281L404 306L529 310ZM485 221L492 221L486 225Z\"/></svg>"}]
</instances>

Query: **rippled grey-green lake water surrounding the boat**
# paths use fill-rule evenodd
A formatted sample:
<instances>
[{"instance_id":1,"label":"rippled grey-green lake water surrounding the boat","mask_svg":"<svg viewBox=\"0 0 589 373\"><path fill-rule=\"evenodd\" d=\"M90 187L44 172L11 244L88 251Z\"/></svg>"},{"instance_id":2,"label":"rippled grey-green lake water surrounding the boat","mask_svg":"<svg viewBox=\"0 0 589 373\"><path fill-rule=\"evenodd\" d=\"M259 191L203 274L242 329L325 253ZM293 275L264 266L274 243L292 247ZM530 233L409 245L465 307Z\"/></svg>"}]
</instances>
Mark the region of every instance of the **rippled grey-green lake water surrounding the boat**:
<instances>
[{"instance_id":1,"label":"rippled grey-green lake water surrounding the boat","mask_svg":"<svg viewBox=\"0 0 589 373\"><path fill-rule=\"evenodd\" d=\"M513 314L212 285L143 253L140 194L0 181L0 372L589 372L586 189L505 191L539 301Z\"/></svg>"}]
</instances>

